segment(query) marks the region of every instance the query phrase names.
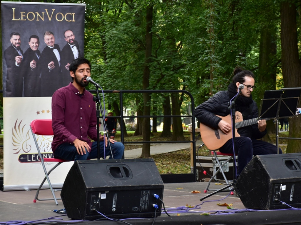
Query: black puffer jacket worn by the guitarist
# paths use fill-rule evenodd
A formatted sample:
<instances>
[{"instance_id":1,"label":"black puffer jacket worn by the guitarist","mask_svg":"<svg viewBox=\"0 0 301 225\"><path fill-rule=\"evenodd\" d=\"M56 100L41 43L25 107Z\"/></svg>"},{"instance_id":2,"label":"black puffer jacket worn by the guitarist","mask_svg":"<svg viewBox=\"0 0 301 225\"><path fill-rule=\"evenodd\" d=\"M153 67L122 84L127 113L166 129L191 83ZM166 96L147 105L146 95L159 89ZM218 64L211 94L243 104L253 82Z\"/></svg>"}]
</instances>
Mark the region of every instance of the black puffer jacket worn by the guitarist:
<instances>
[{"instance_id":1,"label":"black puffer jacket worn by the guitarist","mask_svg":"<svg viewBox=\"0 0 301 225\"><path fill-rule=\"evenodd\" d=\"M207 101L200 104L194 110L194 116L199 120L199 122L213 129L218 128L218 124L221 118L215 115L219 115L219 116L229 115L230 110L228 109L228 107L230 105L230 100L231 98L228 91L219 91L211 98L209 98ZM236 106L235 104L235 109L236 111L243 113L245 110L249 108L249 106L250 105L246 107L241 107L241 106ZM255 101L253 101L252 110L248 112L250 113L247 113L248 115L243 118L244 120L258 117L258 107ZM250 137L251 139L260 139L263 136L265 136L265 134L267 133L266 130L264 132L260 132L257 124L239 128L237 132L240 136Z\"/></svg>"}]
</instances>

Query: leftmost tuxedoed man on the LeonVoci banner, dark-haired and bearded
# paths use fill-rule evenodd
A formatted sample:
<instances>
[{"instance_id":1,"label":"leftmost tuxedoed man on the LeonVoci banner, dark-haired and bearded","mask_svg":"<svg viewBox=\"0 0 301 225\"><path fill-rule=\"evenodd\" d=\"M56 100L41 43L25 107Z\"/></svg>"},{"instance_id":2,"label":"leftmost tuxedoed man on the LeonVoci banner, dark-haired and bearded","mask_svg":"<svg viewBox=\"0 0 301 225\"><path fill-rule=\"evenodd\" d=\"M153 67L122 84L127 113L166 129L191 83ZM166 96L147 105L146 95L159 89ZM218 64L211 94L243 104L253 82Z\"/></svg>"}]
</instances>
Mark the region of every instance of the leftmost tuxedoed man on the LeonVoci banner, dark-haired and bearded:
<instances>
[{"instance_id":1,"label":"leftmost tuxedoed man on the LeonVoci banner, dark-haired and bearded","mask_svg":"<svg viewBox=\"0 0 301 225\"><path fill-rule=\"evenodd\" d=\"M22 97L23 94L23 51L21 49L21 35L18 32L10 34L11 45L5 49L4 58L6 71L6 97Z\"/></svg>"}]
</instances>

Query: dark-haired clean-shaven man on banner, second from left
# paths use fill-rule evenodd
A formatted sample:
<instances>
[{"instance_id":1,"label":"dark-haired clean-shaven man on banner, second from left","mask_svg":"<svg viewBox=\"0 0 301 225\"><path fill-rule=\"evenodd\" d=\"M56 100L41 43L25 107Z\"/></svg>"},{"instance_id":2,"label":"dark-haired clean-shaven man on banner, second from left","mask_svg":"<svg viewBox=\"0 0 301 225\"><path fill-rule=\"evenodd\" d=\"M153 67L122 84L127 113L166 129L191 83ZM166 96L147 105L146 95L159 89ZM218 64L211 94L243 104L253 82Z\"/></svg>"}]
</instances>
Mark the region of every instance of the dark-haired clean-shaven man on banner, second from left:
<instances>
[{"instance_id":1,"label":"dark-haired clean-shaven man on banner, second from left","mask_svg":"<svg viewBox=\"0 0 301 225\"><path fill-rule=\"evenodd\" d=\"M37 35L29 37L29 48L24 53L24 97L41 95L41 52L38 50L40 40Z\"/></svg>"}]
</instances>

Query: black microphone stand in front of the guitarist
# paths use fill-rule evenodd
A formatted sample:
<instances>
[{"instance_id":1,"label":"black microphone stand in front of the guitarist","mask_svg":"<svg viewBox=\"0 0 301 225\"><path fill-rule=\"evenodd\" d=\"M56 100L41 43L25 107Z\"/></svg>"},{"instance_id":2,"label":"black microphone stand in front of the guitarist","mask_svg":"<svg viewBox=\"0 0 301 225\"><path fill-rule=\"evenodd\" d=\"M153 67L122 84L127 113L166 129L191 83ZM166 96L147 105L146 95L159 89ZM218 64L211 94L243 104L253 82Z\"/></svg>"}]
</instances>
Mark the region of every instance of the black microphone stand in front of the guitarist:
<instances>
[{"instance_id":1,"label":"black microphone stand in front of the guitarist","mask_svg":"<svg viewBox=\"0 0 301 225\"><path fill-rule=\"evenodd\" d=\"M206 195L205 197L200 198L200 201L203 201L204 199L215 195L216 193L222 192L223 190L226 190L227 188L234 186L236 182L236 160L235 160L235 152L236 152L236 145L235 145L235 100L237 99L238 95L240 94L240 88L238 88L238 93L235 96L234 100L231 102L231 105L228 107L229 110L231 110L231 116L232 116L232 140L233 140L233 183L226 185L225 187L222 187L219 190L216 190L209 195Z\"/></svg>"}]
</instances>

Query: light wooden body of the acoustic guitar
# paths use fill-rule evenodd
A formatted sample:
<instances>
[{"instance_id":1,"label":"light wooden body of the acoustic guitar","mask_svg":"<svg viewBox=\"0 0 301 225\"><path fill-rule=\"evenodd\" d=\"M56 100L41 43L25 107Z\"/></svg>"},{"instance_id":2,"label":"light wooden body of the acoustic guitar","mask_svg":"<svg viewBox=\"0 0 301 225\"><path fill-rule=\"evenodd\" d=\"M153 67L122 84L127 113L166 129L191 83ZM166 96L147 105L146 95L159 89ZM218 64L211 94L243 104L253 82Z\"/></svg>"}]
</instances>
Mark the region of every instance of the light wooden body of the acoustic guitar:
<instances>
[{"instance_id":1,"label":"light wooden body of the acoustic guitar","mask_svg":"<svg viewBox=\"0 0 301 225\"><path fill-rule=\"evenodd\" d=\"M222 118L222 120L225 120L229 124L232 123L231 115L218 116L218 117ZM242 122L242 121L243 121L242 114L240 112L235 112L235 123ZM228 134L225 134L220 129L214 130L202 123L200 123L200 133L201 133L202 141L204 142L204 144L209 150L219 149L229 139L233 137L232 130L230 130ZM235 129L235 137L240 137L240 135L237 133L237 129Z\"/></svg>"}]
</instances>

